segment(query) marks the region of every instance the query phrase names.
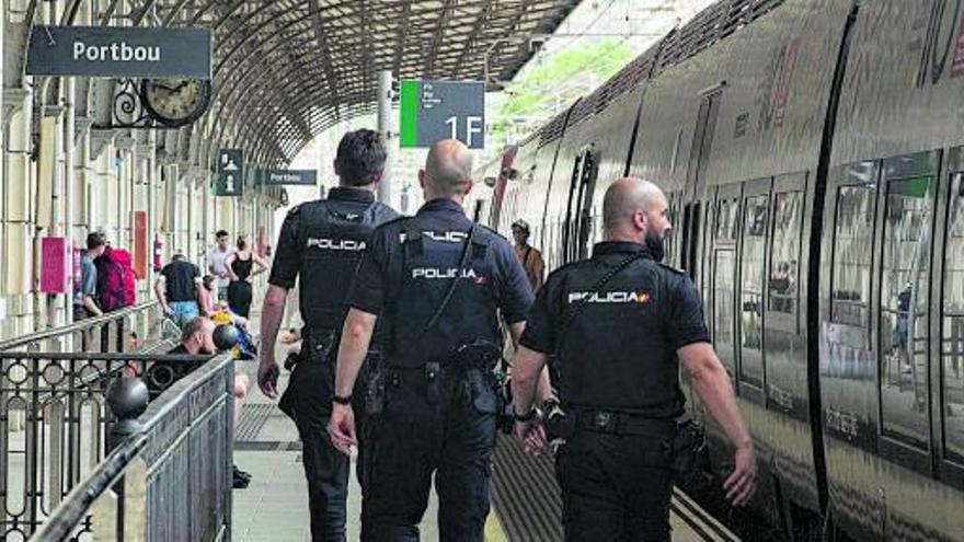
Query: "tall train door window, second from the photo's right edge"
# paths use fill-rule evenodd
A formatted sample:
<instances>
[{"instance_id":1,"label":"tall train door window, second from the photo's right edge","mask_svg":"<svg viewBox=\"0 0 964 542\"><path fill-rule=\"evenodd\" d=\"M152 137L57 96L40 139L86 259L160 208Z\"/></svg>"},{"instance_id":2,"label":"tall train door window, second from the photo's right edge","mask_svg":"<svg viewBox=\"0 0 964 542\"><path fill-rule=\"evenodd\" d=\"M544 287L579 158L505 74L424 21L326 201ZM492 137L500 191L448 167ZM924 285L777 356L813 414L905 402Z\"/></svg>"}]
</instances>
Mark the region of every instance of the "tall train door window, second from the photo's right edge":
<instances>
[{"instance_id":1,"label":"tall train door window, second from the photo's right edge","mask_svg":"<svg viewBox=\"0 0 964 542\"><path fill-rule=\"evenodd\" d=\"M881 262L881 419L892 437L928 441L931 178L887 183Z\"/></svg>"}]
</instances>

